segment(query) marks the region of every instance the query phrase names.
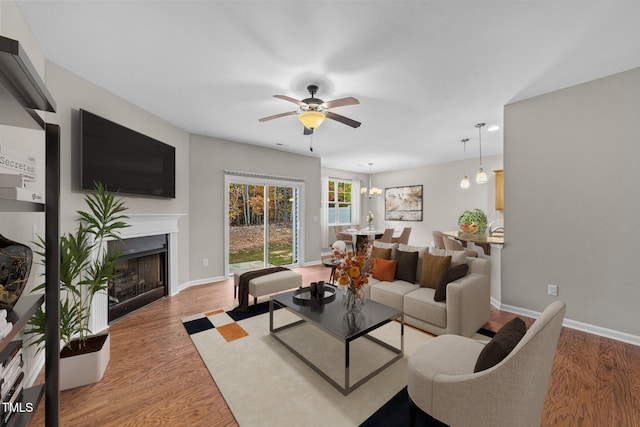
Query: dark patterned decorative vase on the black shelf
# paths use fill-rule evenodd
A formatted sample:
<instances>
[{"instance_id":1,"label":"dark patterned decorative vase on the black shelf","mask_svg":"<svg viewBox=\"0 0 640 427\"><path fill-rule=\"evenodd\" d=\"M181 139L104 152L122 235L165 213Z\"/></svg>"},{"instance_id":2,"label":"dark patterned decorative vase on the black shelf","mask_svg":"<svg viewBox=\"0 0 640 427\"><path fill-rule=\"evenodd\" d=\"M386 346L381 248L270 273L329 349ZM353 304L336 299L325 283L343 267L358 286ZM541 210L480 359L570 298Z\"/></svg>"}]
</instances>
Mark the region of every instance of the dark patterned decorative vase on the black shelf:
<instances>
[{"instance_id":1,"label":"dark patterned decorative vase on the black shelf","mask_svg":"<svg viewBox=\"0 0 640 427\"><path fill-rule=\"evenodd\" d=\"M0 235L0 309L11 310L29 280L31 248Z\"/></svg>"}]
</instances>

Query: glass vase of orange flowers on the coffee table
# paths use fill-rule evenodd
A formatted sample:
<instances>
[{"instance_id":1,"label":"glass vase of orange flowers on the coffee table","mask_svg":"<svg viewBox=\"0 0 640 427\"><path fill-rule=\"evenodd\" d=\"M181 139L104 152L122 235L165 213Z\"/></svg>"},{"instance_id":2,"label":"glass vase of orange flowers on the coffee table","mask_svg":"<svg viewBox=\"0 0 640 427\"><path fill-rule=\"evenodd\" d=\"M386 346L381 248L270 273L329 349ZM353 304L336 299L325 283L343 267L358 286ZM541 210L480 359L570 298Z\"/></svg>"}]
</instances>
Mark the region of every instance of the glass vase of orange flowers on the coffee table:
<instances>
[{"instance_id":1,"label":"glass vase of orange flowers on the coffee table","mask_svg":"<svg viewBox=\"0 0 640 427\"><path fill-rule=\"evenodd\" d=\"M344 290L342 304L348 313L359 312L365 302L364 287L369 283L366 247L356 254L334 249L333 263L334 279Z\"/></svg>"}]
</instances>

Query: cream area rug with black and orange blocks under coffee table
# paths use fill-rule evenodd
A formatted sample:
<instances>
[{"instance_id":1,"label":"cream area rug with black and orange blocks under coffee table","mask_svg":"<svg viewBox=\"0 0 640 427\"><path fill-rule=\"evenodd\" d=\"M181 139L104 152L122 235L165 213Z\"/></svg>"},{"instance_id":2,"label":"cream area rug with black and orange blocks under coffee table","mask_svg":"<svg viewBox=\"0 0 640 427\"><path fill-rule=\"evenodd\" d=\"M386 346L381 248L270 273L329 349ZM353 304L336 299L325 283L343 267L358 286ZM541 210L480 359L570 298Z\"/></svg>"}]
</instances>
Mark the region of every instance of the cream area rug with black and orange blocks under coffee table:
<instances>
[{"instance_id":1,"label":"cream area rug with black and orange blocks under coffee table","mask_svg":"<svg viewBox=\"0 0 640 427\"><path fill-rule=\"evenodd\" d=\"M357 426L407 385L407 357L433 337L405 327L405 355L344 396L269 334L266 303L257 312L211 310L182 319L202 361L241 426ZM274 314L275 326L299 318L287 310ZM283 331L296 350L340 382L344 349L313 325ZM400 323L372 333L400 346ZM282 335L281 335L282 336ZM392 353L366 338L351 345L351 382L391 359Z\"/></svg>"}]
</instances>

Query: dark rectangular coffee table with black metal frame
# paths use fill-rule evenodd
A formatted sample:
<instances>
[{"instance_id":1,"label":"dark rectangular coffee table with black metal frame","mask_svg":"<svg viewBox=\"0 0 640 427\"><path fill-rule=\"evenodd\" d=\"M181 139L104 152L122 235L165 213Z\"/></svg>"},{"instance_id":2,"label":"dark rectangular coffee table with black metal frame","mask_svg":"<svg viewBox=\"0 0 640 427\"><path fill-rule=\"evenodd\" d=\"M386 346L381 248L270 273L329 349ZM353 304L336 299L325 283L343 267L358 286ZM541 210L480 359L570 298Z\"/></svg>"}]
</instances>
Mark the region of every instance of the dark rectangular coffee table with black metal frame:
<instances>
[{"instance_id":1,"label":"dark rectangular coffee table with black metal frame","mask_svg":"<svg viewBox=\"0 0 640 427\"><path fill-rule=\"evenodd\" d=\"M404 315L402 311L395 308L377 303L375 301L366 301L361 310L361 316L349 317L344 306L342 305L342 291L338 291L335 300L320 305L300 305L294 301L294 293L296 291L285 292L273 295L269 300L269 331L271 335L282 345L289 349L293 354L305 362L310 368L316 371L320 376L327 380L331 385L340 390L342 394L347 395L355 390L366 381L377 375L383 369L400 359L404 354ZM289 312L300 317L300 320L285 324L278 328L273 326L274 309L278 307L285 308ZM345 319L348 320L345 322ZM376 337L369 335L372 331L393 321L400 322L400 348L386 343ZM318 366L305 357L300 351L296 350L292 345L282 339L278 333L302 323L309 323L320 330L337 338L344 344L344 384L340 384L322 371ZM364 378L350 383L350 344L360 338L365 337L374 343L391 350L394 356L388 362L368 373Z\"/></svg>"}]
</instances>

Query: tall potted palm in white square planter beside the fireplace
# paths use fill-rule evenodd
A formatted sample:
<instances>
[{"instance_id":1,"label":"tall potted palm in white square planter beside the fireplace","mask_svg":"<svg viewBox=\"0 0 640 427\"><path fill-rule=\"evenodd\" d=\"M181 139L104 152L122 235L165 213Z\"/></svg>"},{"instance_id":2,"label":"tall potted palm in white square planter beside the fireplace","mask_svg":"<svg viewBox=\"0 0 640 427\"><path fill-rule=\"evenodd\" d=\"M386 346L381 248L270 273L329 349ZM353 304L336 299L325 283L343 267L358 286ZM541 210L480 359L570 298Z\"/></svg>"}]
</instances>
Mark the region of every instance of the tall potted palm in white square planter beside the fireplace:
<instances>
[{"instance_id":1,"label":"tall potted palm in white square planter beside the fireplace","mask_svg":"<svg viewBox=\"0 0 640 427\"><path fill-rule=\"evenodd\" d=\"M119 239L128 227L122 199L109 193L101 183L85 196L87 211L78 211L78 227L60 236L60 389L91 384L102 379L110 357L109 333L92 335L89 328L91 302L108 289L115 277L119 252L107 250L106 241ZM36 242L42 264L44 241ZM41 284L34 291L44 290ZM44 346L45 315L40 308L29 320L25 333L37 351Z\"/></svg>"}]
</instances>

